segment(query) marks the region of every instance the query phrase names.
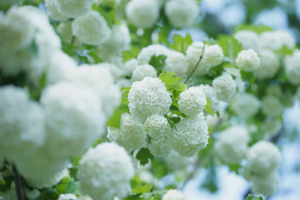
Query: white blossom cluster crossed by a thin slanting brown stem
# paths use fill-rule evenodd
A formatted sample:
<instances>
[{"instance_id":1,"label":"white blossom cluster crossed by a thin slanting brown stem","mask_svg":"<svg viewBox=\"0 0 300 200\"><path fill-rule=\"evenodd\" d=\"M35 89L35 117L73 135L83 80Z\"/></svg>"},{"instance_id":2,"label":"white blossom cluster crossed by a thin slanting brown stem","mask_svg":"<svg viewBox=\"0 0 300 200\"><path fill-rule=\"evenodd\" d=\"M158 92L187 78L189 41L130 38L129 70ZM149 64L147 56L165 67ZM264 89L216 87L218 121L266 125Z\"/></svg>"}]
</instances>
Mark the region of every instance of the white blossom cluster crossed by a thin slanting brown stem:
<instances>
[{"instance_id":1,"label":"white blossom cluster crossed by a thin slanting brown stem","mask_svg":"<svg viewBox=\"0 0 300 200\"><path fill-rule=\"evenodd\" d=\"M196 41L188 46L187 49L187 60L188 60L188 71L196 66L203 50L203 42ZM220 65L222 63L224 54L223 49L215 45L206 45L203 53L203 58L199 63L197 69L194 72L194 76L207 74L212 67Z\"/></svg>"}]
</instances>

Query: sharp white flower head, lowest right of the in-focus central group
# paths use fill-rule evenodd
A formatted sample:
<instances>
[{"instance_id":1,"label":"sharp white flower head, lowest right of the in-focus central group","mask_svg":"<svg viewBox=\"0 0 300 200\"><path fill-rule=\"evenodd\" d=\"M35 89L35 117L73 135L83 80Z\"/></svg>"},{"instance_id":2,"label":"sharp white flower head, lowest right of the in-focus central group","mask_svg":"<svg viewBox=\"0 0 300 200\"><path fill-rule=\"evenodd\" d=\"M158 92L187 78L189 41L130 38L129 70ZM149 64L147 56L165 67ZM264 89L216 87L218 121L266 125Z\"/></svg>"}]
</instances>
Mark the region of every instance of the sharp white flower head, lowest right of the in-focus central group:
<instances>
[{"instance_id":1,"label":"sharp white flower head, lowest right of the in-focus central group","mask_svg":"<svg viewBox=\"0 0 300 200\"><path fill-rule=\"evenodd\" d=\"M171 147L180 156L192 157L208 144L208 127L203 113L184 118L170 136Z\"/></svg>"}]
</instances>

